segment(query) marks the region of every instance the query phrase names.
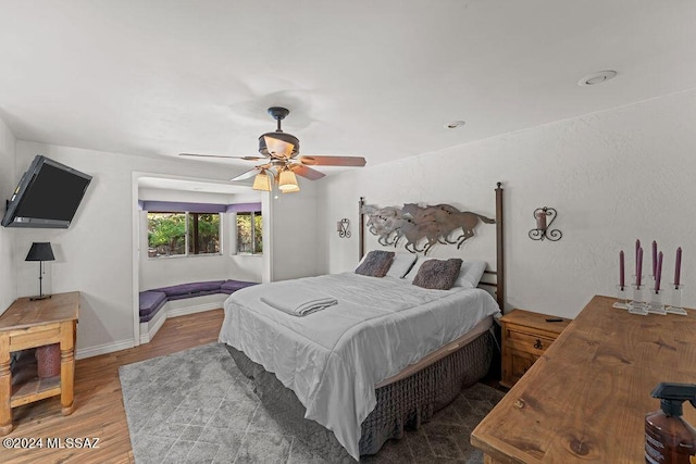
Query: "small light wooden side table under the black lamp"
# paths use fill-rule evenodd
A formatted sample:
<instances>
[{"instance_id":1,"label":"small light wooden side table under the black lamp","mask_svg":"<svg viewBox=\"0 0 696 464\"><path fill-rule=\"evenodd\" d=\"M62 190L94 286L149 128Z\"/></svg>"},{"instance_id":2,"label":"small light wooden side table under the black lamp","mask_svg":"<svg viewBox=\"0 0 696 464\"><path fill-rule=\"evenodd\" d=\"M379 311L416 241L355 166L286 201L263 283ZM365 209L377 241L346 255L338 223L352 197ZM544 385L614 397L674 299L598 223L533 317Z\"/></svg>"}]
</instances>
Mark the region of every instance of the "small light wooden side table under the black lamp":
<instances>
[{"instance_id":1,"label":"small light wooden side table under the black lamp","mask_svg":"<svg viewBox=\"0 0 696 464\"><path fill-rule=\"evenodd\" d=\"M79 292L53 294L32 301L20 298L0 315L0 436L12 431L12 407L61 396L63 415L73 412L75 328ZM12 386L10 353L60 343L61 374Z\"/></svg>"}]
</instances>

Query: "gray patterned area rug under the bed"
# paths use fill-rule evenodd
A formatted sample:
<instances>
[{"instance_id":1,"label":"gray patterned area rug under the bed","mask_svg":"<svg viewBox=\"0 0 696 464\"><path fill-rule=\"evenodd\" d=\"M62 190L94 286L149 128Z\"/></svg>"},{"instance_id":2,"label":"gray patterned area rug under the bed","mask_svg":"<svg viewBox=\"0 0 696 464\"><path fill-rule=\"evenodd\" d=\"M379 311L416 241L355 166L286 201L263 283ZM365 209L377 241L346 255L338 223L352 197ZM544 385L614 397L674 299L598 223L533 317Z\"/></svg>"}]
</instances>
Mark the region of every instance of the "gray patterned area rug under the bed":
<instances>
[{"instance_id":1,"label":"gray patterned area rug under the bed","mask_svg":"<svg viewBox=\"0 0 696 464\"><path fill-rule=\"evenodd\" d=\"M326 463L274 417L222 343L119 369L136 464ZM476 384L366 463L482 463L469 442L502 392Z\"/></svg>"}]
</instances>

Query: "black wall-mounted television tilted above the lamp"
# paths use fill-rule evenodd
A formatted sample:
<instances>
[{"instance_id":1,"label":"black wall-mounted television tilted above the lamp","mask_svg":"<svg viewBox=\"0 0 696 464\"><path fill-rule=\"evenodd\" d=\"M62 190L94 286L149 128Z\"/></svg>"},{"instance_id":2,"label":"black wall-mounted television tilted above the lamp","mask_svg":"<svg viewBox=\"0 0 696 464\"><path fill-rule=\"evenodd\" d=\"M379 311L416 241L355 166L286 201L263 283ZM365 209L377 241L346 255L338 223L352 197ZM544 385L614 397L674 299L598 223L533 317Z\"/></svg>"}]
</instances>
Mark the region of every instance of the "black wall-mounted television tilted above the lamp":
<instances>
[{"instance_id":1,"label":"black wall-mounted television tilted above the lamp","mask_svg":"<svg viewBox=\"0 0 696 464\"><path fill-rule=\"evenodd\" d=\"M91 176L39 154L8 201L1 224L67 228L90 181Z\"/></svg>"}]
</instances>

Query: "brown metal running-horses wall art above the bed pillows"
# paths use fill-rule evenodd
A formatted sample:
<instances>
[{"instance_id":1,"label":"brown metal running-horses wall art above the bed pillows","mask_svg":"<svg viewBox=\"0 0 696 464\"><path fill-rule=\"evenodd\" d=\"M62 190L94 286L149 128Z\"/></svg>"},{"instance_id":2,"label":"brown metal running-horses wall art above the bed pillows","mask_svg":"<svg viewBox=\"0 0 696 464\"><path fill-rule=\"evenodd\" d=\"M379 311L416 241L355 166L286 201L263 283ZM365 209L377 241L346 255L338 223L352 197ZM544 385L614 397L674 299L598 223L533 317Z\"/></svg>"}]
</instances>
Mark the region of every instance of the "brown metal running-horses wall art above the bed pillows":
<instances>
[{"instance_id":1,"label":"brown metal running-horses wall art above the bed pillows","mask_svg":"<svg viewBox=\"0 0 696 464\"><path fill-rule=\"evenodd\" d=\"M396 247L403 237L408 251L424 254L436 243L456 243L459 249L467 239L474 236L474 227L478 222L495 224L495 220L471 211L462 212L449 204L423 208L415 203L406 203L400 209L365 204L360 213L368 215L368 230L378 237L380 244ZM450 236L457 230L461 230L461 235L451 240ZM422 239L427 241L419 249L418 243Z\"/></svg>"}]
</instances>

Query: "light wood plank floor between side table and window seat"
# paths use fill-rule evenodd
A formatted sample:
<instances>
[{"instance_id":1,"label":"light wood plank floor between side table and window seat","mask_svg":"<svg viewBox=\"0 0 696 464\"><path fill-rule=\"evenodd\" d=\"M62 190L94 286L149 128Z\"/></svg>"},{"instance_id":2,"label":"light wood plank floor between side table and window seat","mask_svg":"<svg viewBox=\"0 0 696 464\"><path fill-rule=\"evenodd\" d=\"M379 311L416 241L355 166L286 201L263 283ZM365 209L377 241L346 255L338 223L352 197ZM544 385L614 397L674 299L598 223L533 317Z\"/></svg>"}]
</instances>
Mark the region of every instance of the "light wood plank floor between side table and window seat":
<instances>
[{"instance_id":1,"label":"light wood plank floor between side table and window seat","mask_svg":"<svg viewBox=\"0 0 696 464\"><path fill-rule=\"evenodd\" d=\"M0 462L133 463L119 367L216 341L222 319L222 310L170 318L147 344L78 360L75 367L75 412L70 416L61 415L60 397L13 409L14 430L2 438L42 438L44 448L3 447ZM47 449L47 438L89 438L90 441L99 438L99 441L97 449Z\"/></svg>"}]
</instances>

